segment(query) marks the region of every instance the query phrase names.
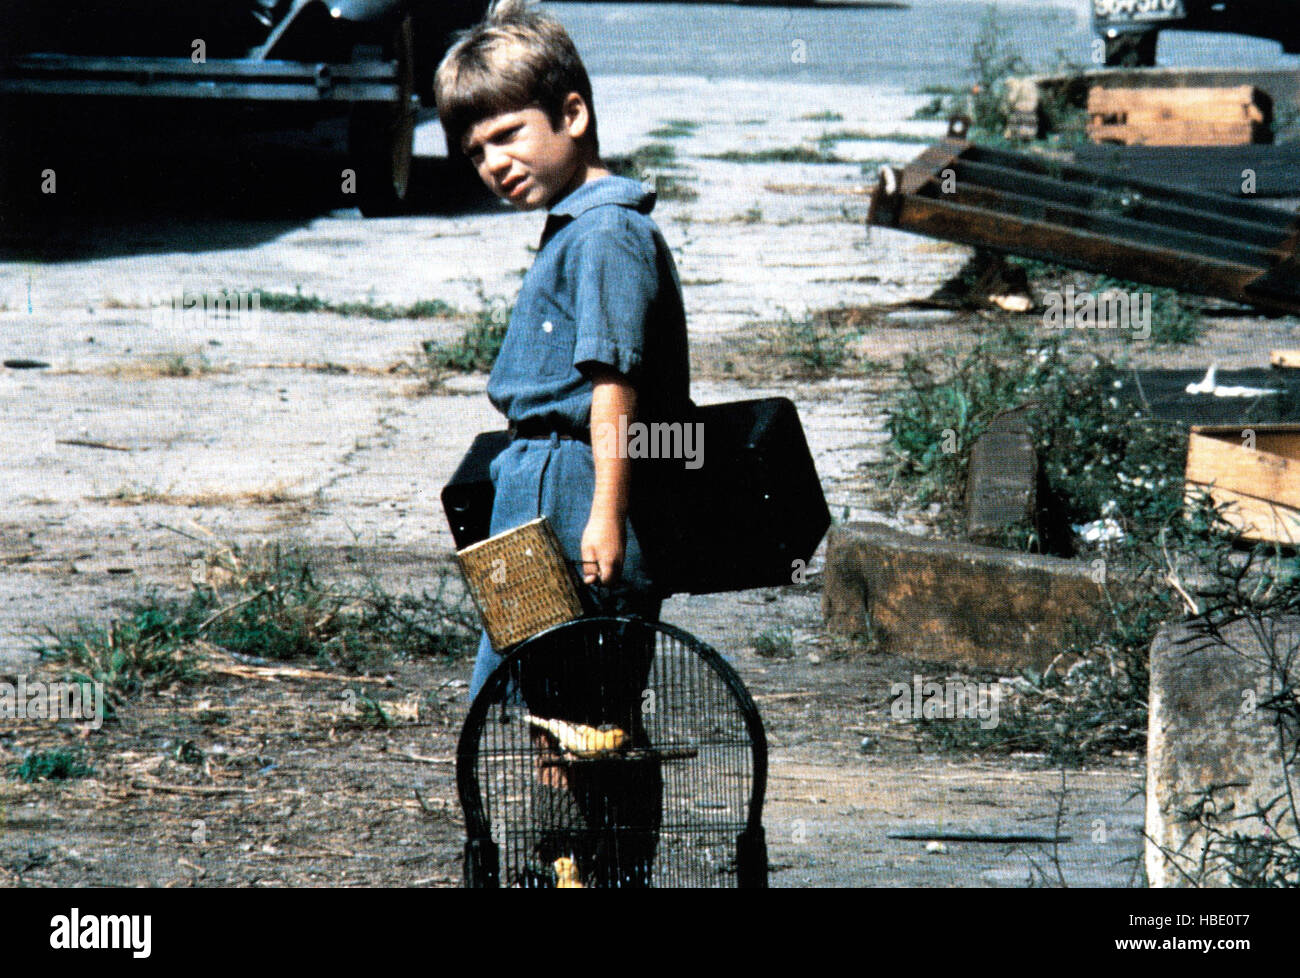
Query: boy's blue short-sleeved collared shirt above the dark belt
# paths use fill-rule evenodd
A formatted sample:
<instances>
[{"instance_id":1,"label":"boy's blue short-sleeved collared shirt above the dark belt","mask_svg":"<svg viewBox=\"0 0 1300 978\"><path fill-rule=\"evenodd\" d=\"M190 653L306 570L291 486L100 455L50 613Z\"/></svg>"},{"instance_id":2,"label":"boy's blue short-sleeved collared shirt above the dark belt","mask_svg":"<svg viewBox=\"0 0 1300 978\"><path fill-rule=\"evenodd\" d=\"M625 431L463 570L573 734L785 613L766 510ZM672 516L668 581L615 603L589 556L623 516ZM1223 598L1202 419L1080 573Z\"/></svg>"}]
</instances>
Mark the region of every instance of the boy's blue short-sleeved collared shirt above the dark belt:
<instances>
[{"instance_id":1,"label":"boy's blue short-sleeved collared shirt above the dark belt","mask_svg":"<svg viewBox=\"0 0 1300 978\"><path fill-rule=\"evenodd\" d=\"M552 204L524 276L488 397L511 421L588 428L588 364L637 389L637 417L690 395L686 316L672 252L650 218L655 196L625 177L584 183Z\"/></svg>"}]
</instances>

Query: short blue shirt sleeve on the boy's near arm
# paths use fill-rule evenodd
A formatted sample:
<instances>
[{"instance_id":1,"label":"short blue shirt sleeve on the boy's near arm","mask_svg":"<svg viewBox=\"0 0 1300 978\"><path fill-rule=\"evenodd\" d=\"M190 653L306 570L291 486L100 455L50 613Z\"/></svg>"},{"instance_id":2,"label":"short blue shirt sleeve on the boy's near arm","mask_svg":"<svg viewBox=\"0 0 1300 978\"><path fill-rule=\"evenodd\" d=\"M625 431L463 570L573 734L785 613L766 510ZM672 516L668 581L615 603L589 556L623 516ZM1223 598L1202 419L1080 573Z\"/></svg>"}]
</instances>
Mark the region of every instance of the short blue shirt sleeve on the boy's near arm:
<instances>
[{"instance_id":1,"label":"short blue shirt sleeve on the boy's near arm","mask_svg":"<svg viewBox=\"0 0 1300 978\"><path fill-rule=\"evenodd\" d=\"M659 285L654 239L615 225L593 229L572 247L573 365L603 363L634 378Z\"/></svg>"}]
</instances>

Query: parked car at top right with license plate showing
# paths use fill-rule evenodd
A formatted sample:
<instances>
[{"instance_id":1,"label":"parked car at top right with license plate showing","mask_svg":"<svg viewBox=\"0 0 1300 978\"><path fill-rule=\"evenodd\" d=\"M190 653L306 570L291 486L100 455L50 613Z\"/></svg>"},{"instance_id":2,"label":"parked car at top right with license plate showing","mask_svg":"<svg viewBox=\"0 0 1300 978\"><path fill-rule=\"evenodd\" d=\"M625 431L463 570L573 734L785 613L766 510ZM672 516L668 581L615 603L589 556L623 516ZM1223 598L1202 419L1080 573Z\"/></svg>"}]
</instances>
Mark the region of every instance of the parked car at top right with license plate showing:
<instances>
[{"instance_id":1,"label":"parked car at top right with license plate showing","mask_svg":"<svg viewBox=\"0 0 1300 978\"><path fill-rule=\"evenodd\" d=\"M1092 0L1093 30L1106 43L1106 64L1156 64L1162 30L1225 31L1282 42L1300 52L1295 0Z\"/></svg>"}]
</instances>

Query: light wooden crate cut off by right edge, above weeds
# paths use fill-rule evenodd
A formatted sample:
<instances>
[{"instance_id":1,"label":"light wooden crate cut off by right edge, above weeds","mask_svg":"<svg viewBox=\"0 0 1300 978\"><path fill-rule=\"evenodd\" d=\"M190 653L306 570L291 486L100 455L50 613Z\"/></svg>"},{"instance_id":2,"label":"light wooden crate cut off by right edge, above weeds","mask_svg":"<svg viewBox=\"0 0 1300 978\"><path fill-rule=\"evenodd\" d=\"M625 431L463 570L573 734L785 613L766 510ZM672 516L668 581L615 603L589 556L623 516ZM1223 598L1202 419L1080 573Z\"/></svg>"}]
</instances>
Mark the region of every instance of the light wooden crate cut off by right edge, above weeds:
<instances>
[{"instance_id":1,"label":"light wooden crate cut off by right edge, above weeds","mask_svg":"<svg viewBox=\"0 0 1300 978\"><path fill-rule=\"evenodd\" d=\"M1188 501L1199 488L1247 538L1300 544L1300 425L1192 425Z\"/></svg>"}]
</instances>

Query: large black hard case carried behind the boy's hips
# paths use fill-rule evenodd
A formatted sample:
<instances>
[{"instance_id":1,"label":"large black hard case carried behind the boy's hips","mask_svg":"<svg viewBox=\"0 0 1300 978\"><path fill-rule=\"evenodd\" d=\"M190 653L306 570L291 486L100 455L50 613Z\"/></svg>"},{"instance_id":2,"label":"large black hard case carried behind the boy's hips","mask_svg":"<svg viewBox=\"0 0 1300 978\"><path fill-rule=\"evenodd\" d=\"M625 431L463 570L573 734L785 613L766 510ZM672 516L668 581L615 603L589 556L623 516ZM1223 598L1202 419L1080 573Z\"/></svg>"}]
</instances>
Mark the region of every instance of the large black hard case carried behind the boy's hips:
<instances>
[{"instance_id":1,"label":"large black hard case carried behind the boy's hips","mask_svg":"<svg viewBox=\"0 0 1300 978\"><path fill-rule=\"evenodd\" d=\"M692 406L680 423L701 425L694 430L702 441L692 446L702 449L702 464L633 456L629 519L656 588L664 596L712 594L797 581L831 511L794 403ZM458 549L489 535L488 466L508 443L506 432L480 434L442 490Z\"/></svg>"}]
</instances>

